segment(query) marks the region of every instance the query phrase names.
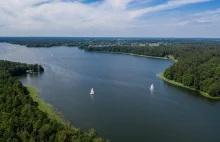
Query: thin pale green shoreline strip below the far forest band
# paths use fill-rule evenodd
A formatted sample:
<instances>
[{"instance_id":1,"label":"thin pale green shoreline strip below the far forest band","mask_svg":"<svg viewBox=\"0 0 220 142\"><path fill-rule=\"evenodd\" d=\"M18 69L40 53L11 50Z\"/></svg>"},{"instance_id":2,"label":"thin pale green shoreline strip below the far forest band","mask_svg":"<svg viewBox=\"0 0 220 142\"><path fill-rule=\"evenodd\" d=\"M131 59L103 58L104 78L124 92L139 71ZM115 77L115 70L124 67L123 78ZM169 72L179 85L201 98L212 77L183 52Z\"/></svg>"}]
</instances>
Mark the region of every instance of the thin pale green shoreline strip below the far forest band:
<instances>
[{"instance_id":1,"label":"thin pale green shoreline strip below the far forest band","mask_svg":"<svg viewBox=\"0 0 220 142\"><path fill-rule=\"evenodd\" d=\"M154 58L154 59L163 59L163 60L172 60L174 62L178 62L178 60L174 59L173 56L167 57L155 57L155 56L146 56L146 55L139 55L139 54L133 54L133 53L125 53L125 52L109 52L109 51L95 51L100 53L111 53L111 54L124 54L124 55L132 55L132 56L138 56L138 57L146 57L146 58Z\"/></svg>"}]
</instances>

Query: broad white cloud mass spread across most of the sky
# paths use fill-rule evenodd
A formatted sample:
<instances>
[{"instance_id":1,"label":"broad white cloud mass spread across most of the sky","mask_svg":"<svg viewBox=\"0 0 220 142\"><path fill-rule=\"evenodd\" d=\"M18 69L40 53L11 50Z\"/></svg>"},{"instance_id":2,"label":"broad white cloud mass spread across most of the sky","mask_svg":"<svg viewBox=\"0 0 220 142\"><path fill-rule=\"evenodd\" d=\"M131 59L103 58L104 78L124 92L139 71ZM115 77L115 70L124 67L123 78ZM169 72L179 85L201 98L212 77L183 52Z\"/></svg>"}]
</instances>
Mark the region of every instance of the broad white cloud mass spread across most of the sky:
<instances>
[{"instance_id":1,"label":"broad white cloud mass spread across most of the sky","mask_svg":"<svg viewBox=\"0 0 220 142\"><path fill-rule=\"evenodd\" d=\"M104 0L86 4L83 0L1 0L0 36L175 36L178 26L215 22L220 15L218 9L185 19L178 16L139 19L150 12L210 0L169 0L142 9L128 8L131 4L150 1L153 0Z\"/></svg>"}]
</instances>

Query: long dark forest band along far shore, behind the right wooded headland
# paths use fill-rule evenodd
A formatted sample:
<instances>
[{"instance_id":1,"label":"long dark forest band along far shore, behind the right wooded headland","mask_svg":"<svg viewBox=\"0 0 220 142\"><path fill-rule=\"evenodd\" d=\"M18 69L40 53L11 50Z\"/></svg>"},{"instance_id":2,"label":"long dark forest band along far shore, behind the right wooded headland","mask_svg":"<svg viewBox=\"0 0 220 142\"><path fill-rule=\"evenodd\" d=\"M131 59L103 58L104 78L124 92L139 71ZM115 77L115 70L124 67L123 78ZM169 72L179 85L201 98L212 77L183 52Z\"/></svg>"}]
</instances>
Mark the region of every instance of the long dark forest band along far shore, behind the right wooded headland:
<instances>
[{"instance_id":1,"label":"long dark forest band along far shore, behind the right wooded headland","mask_svg":"<svg viewBox=\"0 0 220 142\"><path fill-rule=\"evenodd\" d=\"M217 44L204 42L201 45L200 42L188 42L188 43L172 43L170 45L160 45L157 47L145 46L112 46L112 47L83 47L82 49L89 52L120 52L120 53L132 53L138 55L155 56L155 57L168 57L173 55L175 59L182 56L188 56L191 52L207 53L213 56L220 56L220 42ZM186 57L185 56L185 57Z\"/></svg>"}]
</instances>

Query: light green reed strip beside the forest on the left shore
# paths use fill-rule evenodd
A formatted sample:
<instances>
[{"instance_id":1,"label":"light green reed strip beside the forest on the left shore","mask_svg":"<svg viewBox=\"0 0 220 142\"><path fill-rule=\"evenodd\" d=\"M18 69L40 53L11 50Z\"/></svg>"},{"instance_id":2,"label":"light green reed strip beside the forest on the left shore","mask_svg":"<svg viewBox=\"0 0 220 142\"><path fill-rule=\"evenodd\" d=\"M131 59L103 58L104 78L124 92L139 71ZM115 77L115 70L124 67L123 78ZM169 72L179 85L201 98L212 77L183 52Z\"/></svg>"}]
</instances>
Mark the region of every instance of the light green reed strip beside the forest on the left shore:
<instances>
[{"instance_id":1,"label":"light green reed strip beside the forest on the left shore","mask_svg":"<svg viewBox=\"0 0 220 142\"><path fill-rule=\"evenodd\" d=\"M41 111L47 113L50 119L53 119L53 120L58 121L59 123L65 124L65 121L63 120L61 113L55 110L51 104L46 103L44 100L38 97L40 92L36 88L32 86L27 86L27 89L30 92L30 96L33 99L33 101L38 103L38 108Z\"/></svg>"}]
</instances>

